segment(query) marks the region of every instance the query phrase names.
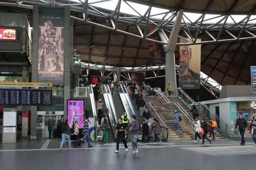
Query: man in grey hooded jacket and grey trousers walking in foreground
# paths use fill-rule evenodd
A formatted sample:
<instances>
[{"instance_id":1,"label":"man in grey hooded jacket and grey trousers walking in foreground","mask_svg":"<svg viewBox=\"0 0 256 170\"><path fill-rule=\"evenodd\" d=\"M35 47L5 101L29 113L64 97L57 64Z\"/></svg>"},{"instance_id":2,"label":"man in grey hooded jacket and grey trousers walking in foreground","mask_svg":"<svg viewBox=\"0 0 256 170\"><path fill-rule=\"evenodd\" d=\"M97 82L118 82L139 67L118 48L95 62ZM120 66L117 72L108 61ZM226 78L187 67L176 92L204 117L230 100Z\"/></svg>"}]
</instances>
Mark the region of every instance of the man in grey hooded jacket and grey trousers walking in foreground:
<instances>
[{"instance_id":1,"label":"man in grey hooded jacket and grey trousers walking in foreground","mask_svg":"<svg viewBox=\"0 0 256 170\"><path fill-rule=\"evenodd\" d=\"M132 146L133 146L132 153L138 153L137 137L139 136L139 122L136 118L136 115L132 116L130 132L131 132L131 136L130 136L131 142L132 142Z\"/></svg>"}]
</instances>

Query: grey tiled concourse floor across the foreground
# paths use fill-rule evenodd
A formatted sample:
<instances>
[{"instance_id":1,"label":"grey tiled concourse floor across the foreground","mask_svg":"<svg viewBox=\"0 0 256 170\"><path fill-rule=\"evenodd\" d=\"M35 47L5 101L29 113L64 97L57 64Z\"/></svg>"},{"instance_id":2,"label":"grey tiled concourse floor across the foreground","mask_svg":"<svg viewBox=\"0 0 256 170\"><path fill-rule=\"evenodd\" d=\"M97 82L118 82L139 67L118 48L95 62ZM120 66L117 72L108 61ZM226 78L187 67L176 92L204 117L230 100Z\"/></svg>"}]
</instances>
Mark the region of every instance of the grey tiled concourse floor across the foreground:
<instances>
[{"instance_id":1,"label":"grey tiled concourse floor across the foreground","mask_svg":"<svg viewBox=\"0 0 256 170\"><path fill-rule=\"evenodd\" d=\"M212 145L200 145L192 140L169 141L159 144L139 143L139 153L115 154L116 143L92 142L80 149L59 151L60 139L51 140L41 149L46 139L21 139L15 144L0 144L0 170L241 170L253 168L256 146L247 138L247 145L240 146L240 139L216 140ZM207 141L206 141L207 143Z\"/></svg>"}]
</instances>

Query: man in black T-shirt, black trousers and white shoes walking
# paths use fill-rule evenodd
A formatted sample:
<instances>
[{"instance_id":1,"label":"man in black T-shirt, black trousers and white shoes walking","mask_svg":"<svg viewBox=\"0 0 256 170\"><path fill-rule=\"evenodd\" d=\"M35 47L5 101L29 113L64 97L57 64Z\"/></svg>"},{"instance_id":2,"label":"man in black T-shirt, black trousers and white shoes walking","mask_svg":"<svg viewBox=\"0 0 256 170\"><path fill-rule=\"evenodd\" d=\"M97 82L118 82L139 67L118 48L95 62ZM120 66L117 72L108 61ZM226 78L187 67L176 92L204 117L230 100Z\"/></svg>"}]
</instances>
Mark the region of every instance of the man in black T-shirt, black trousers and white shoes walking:
<instances>
[{"instance_id":1,"label":"man in black T-shirt, black trousers and white shoes walking","mask_svg":"<svg viewBox=\"0 0 256 170\"><path fill-rule=\"evenodd\" d=\"M116 126L116 132L114 137L116 138L116 142L117 142L117 147L116 147L116 152L114 153L119 153L119 143L120 143L120 139L123 141L123 145L125 147L125 152L128 152L128 146L126 144L126 140L125 140L125 131L127 131L126 125L122 122L123 119L121 117L118 118L118 123Z\"/></svg>"}]
</instances>

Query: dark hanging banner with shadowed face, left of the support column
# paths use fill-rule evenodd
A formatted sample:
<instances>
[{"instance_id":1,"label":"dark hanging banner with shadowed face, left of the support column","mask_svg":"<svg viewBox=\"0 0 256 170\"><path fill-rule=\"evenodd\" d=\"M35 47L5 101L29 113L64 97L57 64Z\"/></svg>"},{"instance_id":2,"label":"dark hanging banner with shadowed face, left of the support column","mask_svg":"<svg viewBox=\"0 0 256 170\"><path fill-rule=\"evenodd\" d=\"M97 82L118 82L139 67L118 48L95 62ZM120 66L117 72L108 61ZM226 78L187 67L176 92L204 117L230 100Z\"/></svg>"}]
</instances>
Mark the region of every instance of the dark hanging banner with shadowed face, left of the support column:
<instances>
[{"instance_id":1,"label":"dark hanging banner with shadowed face, left of the support column","mask_svg":"<svg viewBox=\"0 0 256 170\"><path fill-rule=\"evenodd\" d=\"M148 31L154 30L153 27L149 27ZM160 36L157 31L148 36L149 39L160 41ZM165 64L165 51L163 45L156 42L149 42L149 61L151 64Z\"/></svg>"}]
</instances>

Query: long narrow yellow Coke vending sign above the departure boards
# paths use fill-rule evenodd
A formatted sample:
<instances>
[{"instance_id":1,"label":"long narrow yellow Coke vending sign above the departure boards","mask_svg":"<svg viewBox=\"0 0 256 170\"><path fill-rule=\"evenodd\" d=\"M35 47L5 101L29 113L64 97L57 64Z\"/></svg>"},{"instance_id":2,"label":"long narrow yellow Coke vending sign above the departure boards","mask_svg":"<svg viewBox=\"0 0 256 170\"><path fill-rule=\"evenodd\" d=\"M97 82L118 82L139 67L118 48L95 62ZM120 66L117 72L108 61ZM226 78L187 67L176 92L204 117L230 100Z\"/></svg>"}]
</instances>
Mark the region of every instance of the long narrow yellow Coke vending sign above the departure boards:
<instances>
[{"instance_id":1,"label":"long narrow yellow Coke vending sign above the departure boards","mask_svg":"<svg viewBox=\"0 0 256 170\"><path fill-rule=\"evenodd\" d=\"M0 82L0 86L15 86L15 87L52 87L52 83Z\"/></svg>"}]
</instances>

